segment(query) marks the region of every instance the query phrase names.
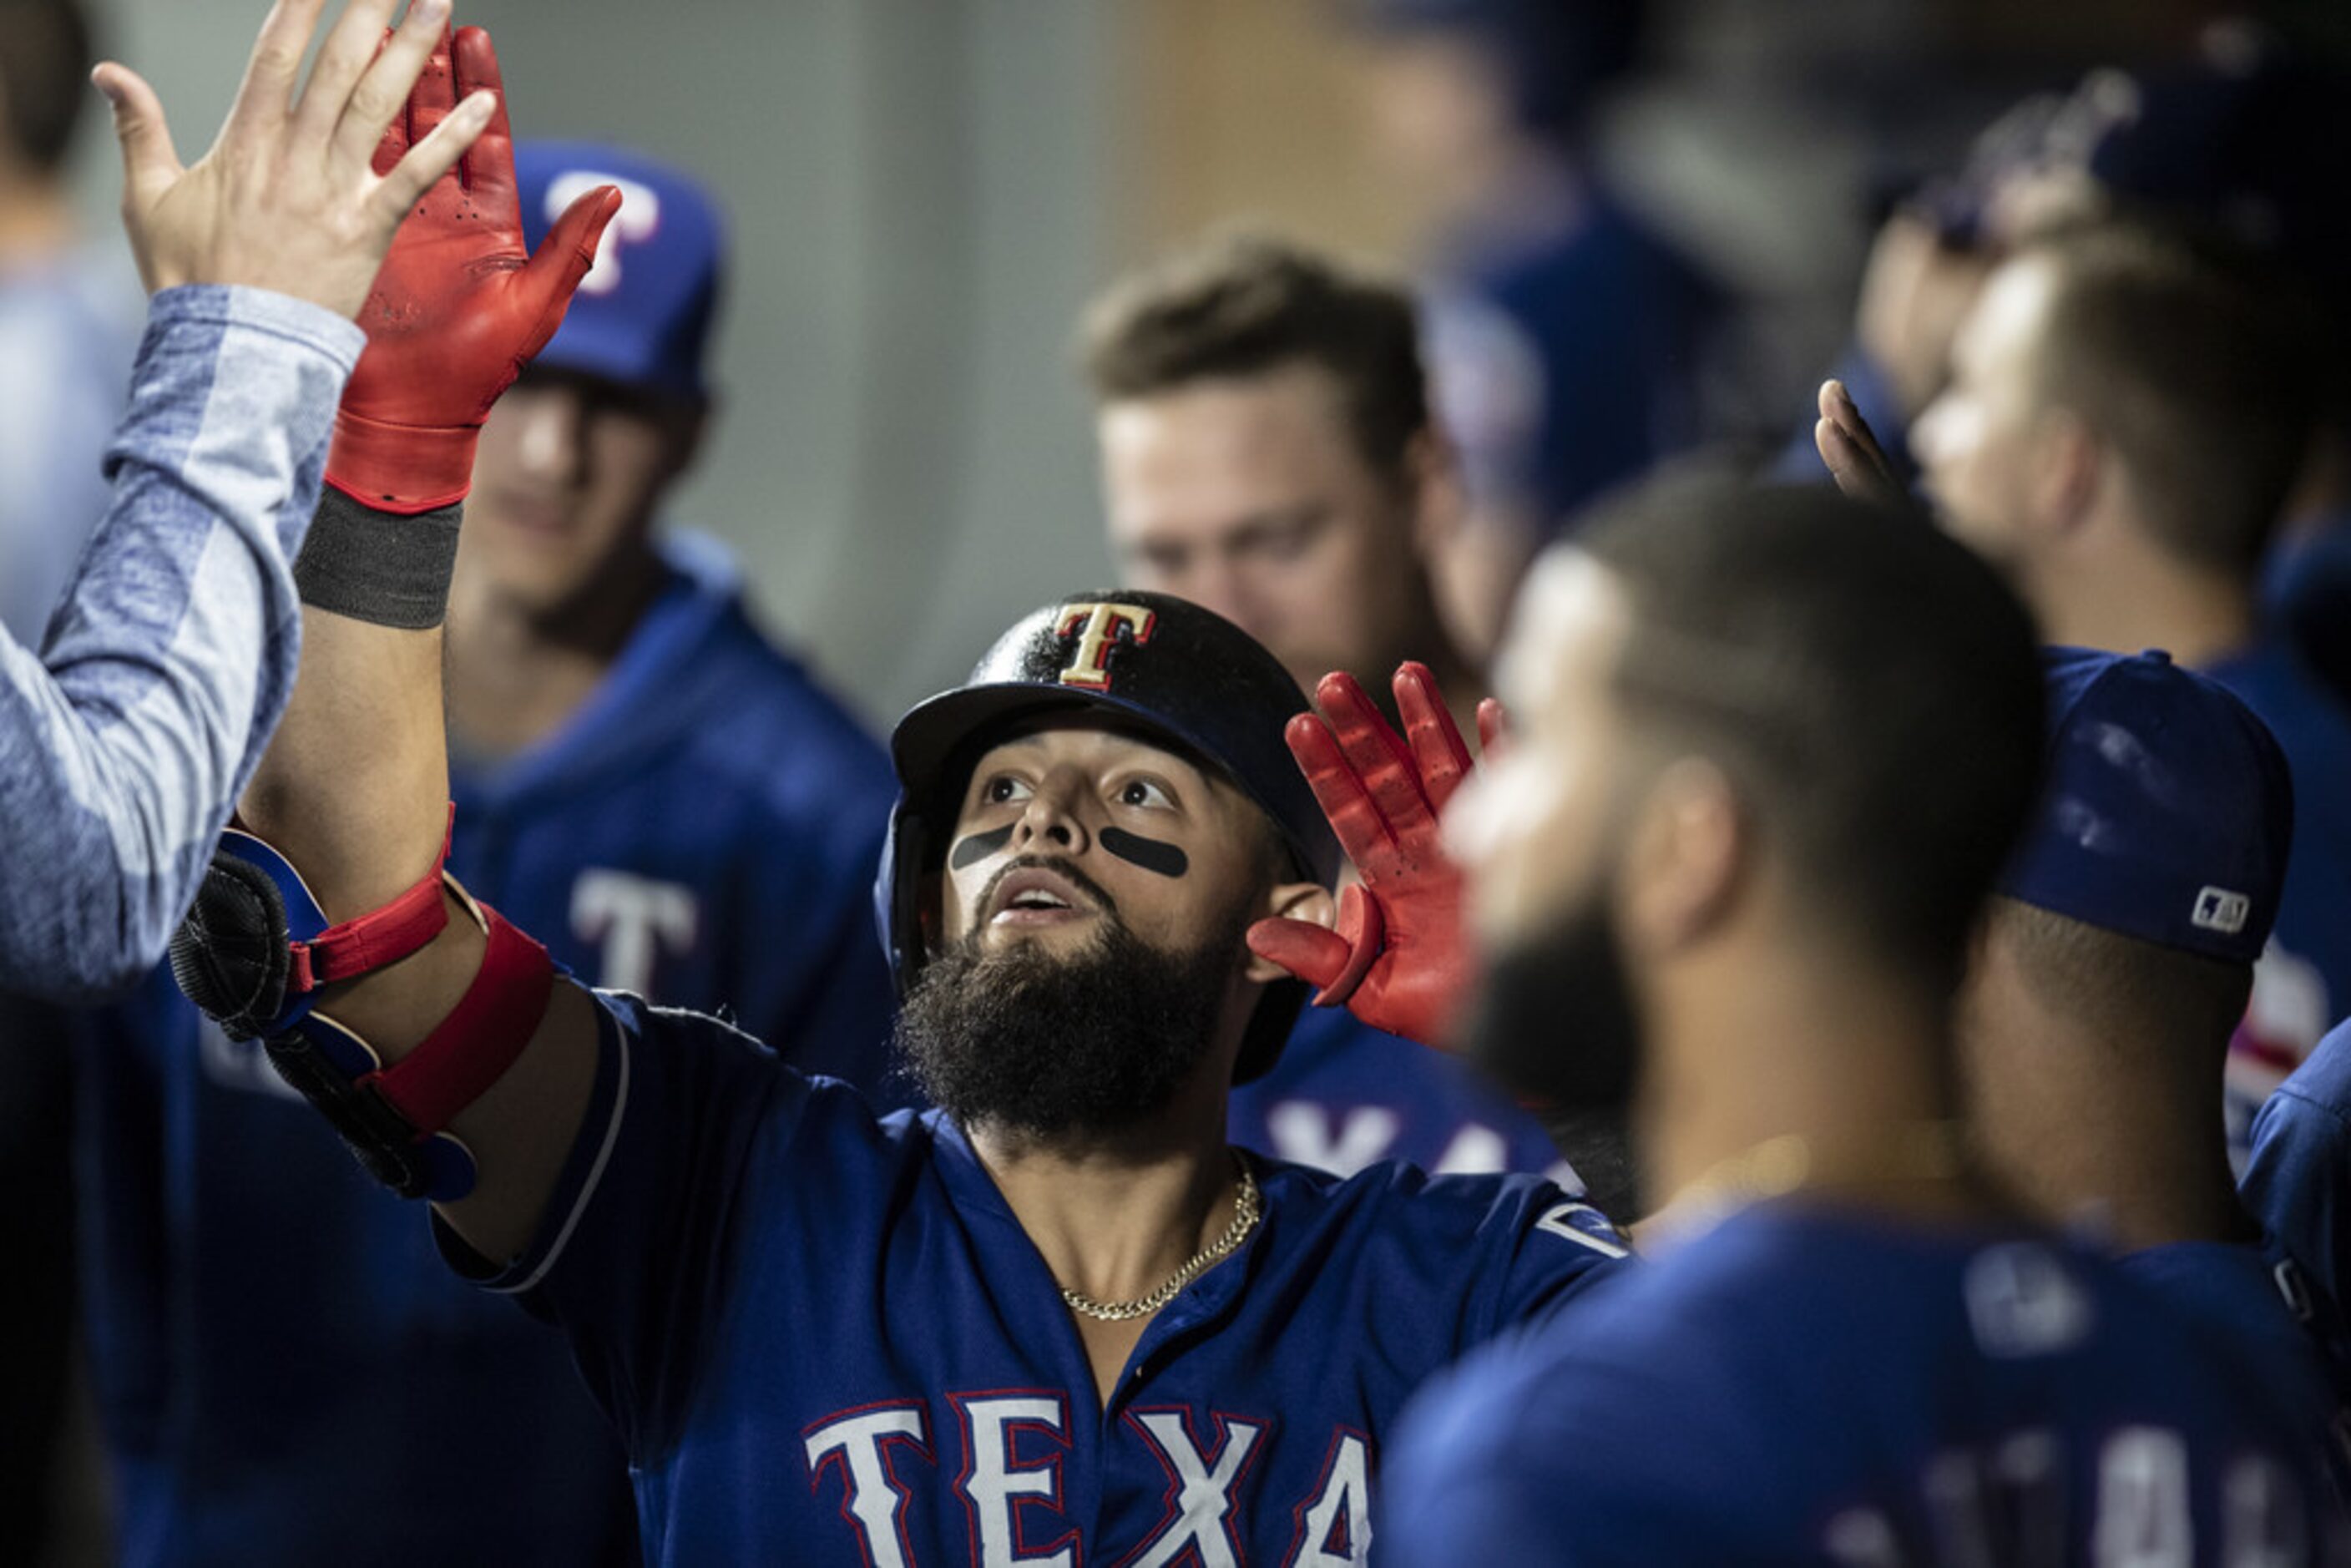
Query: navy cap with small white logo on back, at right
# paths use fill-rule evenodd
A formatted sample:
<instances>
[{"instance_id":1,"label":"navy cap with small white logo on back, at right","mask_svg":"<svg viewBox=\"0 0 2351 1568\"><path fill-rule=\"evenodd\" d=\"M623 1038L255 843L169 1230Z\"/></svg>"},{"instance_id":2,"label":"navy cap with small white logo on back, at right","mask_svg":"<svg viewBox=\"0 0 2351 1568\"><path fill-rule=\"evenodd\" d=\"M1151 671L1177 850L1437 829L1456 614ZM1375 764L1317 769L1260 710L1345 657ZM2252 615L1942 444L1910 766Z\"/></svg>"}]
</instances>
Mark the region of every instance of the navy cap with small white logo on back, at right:
<instances>
[{"instance_id":1,"label":"navy cap with small white logo on back, at right","mask_svg":"<svg viewBox=\"0 0 2351 1568\"><path fill-rule=\"evenodd\" d=\"M1998 891L2161 947L2262 957L2295 832L2269 726L2170 654L2041 661L2048 778Z\"/></svg>"}]
</instances>

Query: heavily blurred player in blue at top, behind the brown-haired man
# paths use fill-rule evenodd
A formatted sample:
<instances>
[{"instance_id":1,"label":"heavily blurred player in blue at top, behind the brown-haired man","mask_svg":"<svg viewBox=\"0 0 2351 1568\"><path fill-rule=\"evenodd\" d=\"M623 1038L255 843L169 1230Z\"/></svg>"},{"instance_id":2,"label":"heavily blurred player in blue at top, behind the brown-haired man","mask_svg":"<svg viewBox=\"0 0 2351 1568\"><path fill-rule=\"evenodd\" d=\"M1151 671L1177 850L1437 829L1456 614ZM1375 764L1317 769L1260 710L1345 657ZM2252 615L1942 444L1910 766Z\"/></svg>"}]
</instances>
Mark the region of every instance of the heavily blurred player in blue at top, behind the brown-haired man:
<instances>
[{"instance_id":1,"label":"heavily blurred player in blue at top, behind the brown-haired man","mask_svg":"<svg viewBox=\"0 0 2351 1568\"><path fill-rule=\"evenodd\" d=\"M1596 108L1643 0L1366 0L1373 146L1434 219L1429 369L1467 522L1434 550L1462 646L1573 512L1709 435L1730 299L1610 188Z\"/></svg>"}]
</instances>

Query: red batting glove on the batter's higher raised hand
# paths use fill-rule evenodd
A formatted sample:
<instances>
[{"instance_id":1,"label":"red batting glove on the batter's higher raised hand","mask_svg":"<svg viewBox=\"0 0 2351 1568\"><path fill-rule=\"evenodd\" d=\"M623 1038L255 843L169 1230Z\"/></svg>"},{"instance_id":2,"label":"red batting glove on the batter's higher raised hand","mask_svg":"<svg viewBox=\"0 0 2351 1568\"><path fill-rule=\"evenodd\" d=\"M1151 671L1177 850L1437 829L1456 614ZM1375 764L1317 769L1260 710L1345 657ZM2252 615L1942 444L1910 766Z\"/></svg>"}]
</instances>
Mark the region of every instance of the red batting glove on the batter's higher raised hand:
<instances>
[{"instance_id":1,"label":"red batting glove on the batter's higher raised hand","mask_svg":"<svg viewBox=\"0 0 2351 1568\"><path fill-rule=\"evenodd\" d=\"M407 110L383 132L376 174L477 89L498 94L489 129L400 223L360 310L367 353L343 388L327 484L379 512L430 512L473 489L473 447L489 404L564 320L621 193L600 186L522 249L515 129L498 54L482 28L442 33Z\"/></svg>"}]
</instances>

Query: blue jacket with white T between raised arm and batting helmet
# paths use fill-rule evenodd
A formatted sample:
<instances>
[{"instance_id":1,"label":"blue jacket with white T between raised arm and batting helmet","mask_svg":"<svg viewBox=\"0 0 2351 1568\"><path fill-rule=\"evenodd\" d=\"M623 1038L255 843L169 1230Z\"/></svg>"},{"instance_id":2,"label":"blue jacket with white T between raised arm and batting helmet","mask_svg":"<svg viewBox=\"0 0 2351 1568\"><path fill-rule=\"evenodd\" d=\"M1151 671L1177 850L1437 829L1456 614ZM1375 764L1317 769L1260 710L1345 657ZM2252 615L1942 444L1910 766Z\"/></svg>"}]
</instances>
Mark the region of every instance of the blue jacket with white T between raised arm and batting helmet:
<instances>
[{"instance_id":1,"label":"blue jacket with white T between raised arm and batting helmet","mask_svg":"<svg viewBox=\"0 0 2351 1568\"><path fill-rule=\"evenodd\" d=\"M454 762L449 870L592 985L898 1093L872 926L889 757L759 635L715 541L661 550L668 588L581 710L520 757Z\"/></svg>"}]
</instances>

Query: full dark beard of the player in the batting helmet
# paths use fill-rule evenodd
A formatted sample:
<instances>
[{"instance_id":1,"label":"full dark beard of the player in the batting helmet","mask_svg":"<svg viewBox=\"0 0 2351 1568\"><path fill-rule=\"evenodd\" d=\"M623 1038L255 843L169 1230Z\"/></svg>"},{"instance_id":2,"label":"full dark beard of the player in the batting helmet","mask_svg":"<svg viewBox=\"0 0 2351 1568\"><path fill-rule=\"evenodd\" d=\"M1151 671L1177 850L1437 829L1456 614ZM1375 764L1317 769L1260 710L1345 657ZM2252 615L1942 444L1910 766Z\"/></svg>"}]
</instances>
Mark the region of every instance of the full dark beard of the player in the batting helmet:
<instances>
[{"instance_id":1,"label":"full dark beard of the player in the batting helmet","mask_svg":"<svg viewBox=\"0 0 2351 1568\"><path fill-rule=\"evenodd\" d=\"M1246 905L1161 950L1112 910L1079 952L980 931L924 964L898 1013L922 1093L962 1126L1037 1143L1121 1133L1168 1105L1215 1044L1244 961Z\"/></svg>"}]
</instances>

